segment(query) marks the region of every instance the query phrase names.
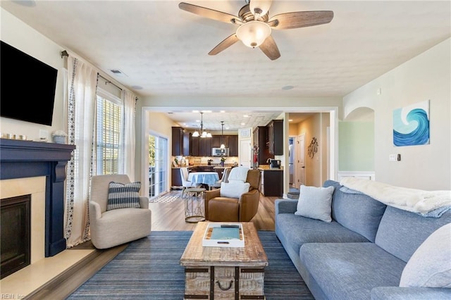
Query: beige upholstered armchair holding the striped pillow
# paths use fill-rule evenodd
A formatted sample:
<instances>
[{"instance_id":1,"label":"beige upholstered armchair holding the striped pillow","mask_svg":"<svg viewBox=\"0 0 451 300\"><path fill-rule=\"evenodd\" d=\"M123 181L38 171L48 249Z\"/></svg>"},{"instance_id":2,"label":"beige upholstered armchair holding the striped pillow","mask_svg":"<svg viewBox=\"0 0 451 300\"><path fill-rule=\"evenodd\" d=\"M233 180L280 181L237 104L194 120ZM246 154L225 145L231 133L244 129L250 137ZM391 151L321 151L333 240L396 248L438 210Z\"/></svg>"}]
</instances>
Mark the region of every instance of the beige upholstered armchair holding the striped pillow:
<instances>
[{"instance_id":1,"label":"beige upholstered armchair holding the striped pillow","mask_svg":"<svg viewBox=\"0 0 451 300\"><path fill-rule=\"evenodd\" d=\"M91 180L89 223L91 241L97 249L106 249L135 239L147 237L151 232L152 211L149 199L140 196L141 208L117 208L106 211L109 183L130 183L127 175L98 175Z\"/></svg>"}]
</instances>

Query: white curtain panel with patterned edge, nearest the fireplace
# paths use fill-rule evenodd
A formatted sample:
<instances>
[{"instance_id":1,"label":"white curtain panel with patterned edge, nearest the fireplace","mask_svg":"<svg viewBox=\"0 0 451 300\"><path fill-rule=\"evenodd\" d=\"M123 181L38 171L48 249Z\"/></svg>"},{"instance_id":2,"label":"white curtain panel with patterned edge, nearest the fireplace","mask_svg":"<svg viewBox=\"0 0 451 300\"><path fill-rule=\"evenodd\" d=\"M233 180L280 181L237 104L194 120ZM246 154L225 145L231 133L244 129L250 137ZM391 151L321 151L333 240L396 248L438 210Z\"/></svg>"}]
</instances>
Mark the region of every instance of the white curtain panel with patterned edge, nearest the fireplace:
<instances>
[{"instance_id":1,"label":"white curtain panel with patterned edge, nearest the fireplace","mask_svg":"<svg viewBox=\"0 0 451 300\"><path fill-rule=\"evenodd\" d=\"M89 239L88 196L92 176L97 70L68 57L68 142L75 144L66 180L68 248Z\"/></svg>"}]
</instances>

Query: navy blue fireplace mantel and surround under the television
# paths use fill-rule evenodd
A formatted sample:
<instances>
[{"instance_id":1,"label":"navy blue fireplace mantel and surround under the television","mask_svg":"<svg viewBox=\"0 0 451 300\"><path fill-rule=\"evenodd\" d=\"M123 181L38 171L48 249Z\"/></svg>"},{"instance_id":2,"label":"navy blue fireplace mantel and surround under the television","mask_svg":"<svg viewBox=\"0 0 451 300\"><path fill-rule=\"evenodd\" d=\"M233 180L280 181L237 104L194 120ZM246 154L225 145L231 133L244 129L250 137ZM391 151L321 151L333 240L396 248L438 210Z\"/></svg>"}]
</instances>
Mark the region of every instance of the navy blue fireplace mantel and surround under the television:
<instances>
[{"instance_id":1,"label":"navy blue fireplace mantel and surround under the television","mask_svg":"<svg viewBox=\"0 0 451 300\"><path fill-rule=\"evenodd\" d=\"M45 176L45 257L66 249L64 180L73 145L0 139L0 180Z\"/></svg>"}]
</instances>

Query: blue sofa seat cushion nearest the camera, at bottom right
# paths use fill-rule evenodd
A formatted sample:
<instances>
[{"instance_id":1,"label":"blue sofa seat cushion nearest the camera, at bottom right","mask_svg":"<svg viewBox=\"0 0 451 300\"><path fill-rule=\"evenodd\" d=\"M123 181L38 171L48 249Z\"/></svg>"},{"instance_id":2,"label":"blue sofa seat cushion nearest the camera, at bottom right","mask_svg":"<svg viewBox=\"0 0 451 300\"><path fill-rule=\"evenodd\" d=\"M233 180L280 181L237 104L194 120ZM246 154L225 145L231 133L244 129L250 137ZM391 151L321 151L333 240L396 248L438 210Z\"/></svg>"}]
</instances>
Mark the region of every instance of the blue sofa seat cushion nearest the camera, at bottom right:
<instances>
[{"instance_id":1,"label":"blue sofa seat cushion nearest the camera, at bottom right","mask_svg":"<svg viewBox=\"0 0 451 300\"><path fill-rule=\"evenodd\" d=\"M371 299L374 287L396 287L406 263L376 244L312 243L299 258L328 299Z\"/></svg>"}]
</instances>

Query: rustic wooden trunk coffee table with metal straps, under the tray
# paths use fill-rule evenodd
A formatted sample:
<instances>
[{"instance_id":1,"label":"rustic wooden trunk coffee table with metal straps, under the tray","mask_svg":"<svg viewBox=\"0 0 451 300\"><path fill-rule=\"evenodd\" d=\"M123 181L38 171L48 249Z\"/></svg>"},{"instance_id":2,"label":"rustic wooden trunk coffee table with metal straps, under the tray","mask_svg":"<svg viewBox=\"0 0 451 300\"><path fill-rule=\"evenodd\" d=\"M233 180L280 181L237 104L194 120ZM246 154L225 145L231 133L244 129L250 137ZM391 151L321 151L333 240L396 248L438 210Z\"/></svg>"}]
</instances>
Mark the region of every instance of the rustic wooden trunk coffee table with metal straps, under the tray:
<instances>
[{"instance_id":1,"label":"rustic wooden trunk coffee table with metal straps, under the tray","mask_svg":"<svg viewBox=\"0 0 451 300\"><path fill-rule=\"evenodd\" d=\"M185 299L265 299L268 258L254 224L242 222L242 248L202 246L208 224L197 223L180 258L185 267Z\"/></svg>"}]
</instances>

